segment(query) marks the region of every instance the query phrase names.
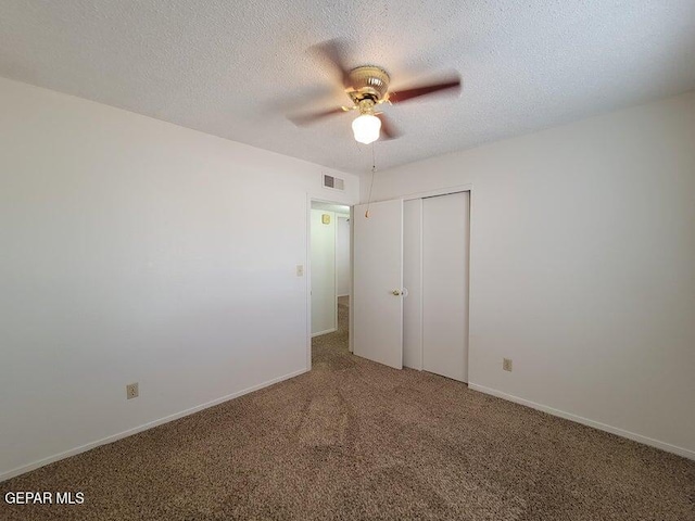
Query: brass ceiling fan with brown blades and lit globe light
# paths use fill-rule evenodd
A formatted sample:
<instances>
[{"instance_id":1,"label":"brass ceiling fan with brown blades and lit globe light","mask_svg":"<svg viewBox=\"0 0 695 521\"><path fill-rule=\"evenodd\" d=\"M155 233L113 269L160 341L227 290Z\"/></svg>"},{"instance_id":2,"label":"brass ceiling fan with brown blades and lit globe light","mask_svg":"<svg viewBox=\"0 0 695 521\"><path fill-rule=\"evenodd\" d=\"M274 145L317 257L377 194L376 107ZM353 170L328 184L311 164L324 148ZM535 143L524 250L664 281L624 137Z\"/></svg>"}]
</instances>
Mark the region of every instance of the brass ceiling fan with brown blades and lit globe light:
<instances>
[{"instance_id":1,"label":"brass ceiling fan with brown blades and lit globe light","mask_svg":"<svg viewBox=\"0 0 695 521\"><path fill-rule=\"evenodd\" d=\"M340 82L352 104L290 116L290 120L296 125L308 125L328 116L357 111L359 115L352 122L352 129L355 141L359 143L369 144L379 139L380 135L386 139L394 139L400 136L386 114L375 111L378 105L403 103L433 93L460 92L460 76L457 74L437 82L418 85L395 92L391 91L389 90L391 77L383 68L375 65L348 68L338 40L318 43L312 47L311 51L339 74Z\"/></svg>"}]
</instances>

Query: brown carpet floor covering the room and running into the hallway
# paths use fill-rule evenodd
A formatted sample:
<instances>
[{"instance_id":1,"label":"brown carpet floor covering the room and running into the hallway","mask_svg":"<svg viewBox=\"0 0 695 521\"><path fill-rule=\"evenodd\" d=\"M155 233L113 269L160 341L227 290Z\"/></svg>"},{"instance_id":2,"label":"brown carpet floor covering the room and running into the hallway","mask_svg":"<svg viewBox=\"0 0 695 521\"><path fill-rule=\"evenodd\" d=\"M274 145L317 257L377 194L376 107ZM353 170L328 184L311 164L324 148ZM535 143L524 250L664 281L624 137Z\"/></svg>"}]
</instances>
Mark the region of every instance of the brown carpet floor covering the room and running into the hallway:
<instances>
[{"instance_id":1,"label":"brown carpet floor covering the room and running into the hallway","mask_svg":"<svg viewBox=\"0 0 695 521\"><path fill-rule=\"evenodd\" d=\"M695 461L315 339L309 373L0 484L1 520L695 520Z\"/></svg>"}]
</instances>

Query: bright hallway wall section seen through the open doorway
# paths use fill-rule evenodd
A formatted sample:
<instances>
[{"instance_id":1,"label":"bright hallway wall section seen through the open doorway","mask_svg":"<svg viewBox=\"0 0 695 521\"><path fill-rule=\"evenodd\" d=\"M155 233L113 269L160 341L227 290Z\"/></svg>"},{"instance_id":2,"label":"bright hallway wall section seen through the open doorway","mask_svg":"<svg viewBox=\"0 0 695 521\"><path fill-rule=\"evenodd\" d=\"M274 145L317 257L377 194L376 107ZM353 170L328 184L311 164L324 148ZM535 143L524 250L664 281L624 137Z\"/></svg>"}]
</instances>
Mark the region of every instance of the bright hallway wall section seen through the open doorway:
<instances>
[{"instance_id":1,"label":"bright hallway wall section seen through the open doorway","mask_svg":"<svg viewBox=\"0 0 695 521\"><path fill-rule=\"evenodd\" d=\"M328 215L330 223L323 223ZM312 209L312 335L336 331L336 213Z\"/></svg>"}]
</instances>

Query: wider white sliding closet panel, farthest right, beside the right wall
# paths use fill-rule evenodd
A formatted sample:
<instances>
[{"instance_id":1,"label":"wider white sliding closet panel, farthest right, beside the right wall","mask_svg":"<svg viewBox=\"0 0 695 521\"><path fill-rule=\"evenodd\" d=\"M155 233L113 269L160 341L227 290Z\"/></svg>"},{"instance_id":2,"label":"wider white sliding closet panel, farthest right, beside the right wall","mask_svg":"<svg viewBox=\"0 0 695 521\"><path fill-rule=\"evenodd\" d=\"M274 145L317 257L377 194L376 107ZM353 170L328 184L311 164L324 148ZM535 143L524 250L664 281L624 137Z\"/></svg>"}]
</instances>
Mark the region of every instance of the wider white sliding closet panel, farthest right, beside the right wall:
<instances>
[{"instance_id":1,"label":"wider white sliding closet panel, farthest right, beside the right wall","mask_svg":"<svg viewBox=\"0 0 695 521\"><path fill-rule=\"evenodd\" d=\"M468 381L469 192L422 200L422 368Z\"/></svg>"}]
</instances>

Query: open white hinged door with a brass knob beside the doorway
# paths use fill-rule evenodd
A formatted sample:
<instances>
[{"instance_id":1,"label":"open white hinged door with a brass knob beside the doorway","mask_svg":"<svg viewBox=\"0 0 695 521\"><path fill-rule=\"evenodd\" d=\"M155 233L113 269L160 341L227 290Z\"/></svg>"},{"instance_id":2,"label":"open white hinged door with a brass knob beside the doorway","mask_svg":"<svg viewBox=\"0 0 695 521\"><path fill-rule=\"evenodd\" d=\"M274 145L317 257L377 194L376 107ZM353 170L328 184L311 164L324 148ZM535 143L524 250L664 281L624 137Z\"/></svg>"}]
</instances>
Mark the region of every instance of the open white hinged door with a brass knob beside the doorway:
<instances>
[{"instance_id":1,"label":"open white hinged door with a brass knob beside the doorway","mask_svg":"<svg viewBox=\"0 0 695 521\"><path fill-rule=\"evenodd\" d=\"M403 368L403 201L355 206L353 352ZM397 294L394 294L397 293Z\"/></svg>"}]
</instances>

